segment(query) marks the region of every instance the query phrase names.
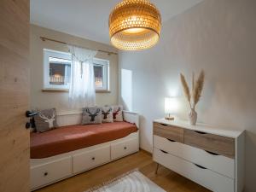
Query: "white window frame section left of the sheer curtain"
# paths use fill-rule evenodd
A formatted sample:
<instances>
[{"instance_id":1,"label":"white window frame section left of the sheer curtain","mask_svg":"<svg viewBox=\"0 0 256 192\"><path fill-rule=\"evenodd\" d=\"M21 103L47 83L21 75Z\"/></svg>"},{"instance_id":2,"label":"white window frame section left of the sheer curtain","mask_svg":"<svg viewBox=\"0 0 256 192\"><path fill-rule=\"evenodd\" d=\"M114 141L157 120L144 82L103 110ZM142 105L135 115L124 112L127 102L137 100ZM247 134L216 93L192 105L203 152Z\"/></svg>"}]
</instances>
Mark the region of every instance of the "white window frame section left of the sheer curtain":
<instances>
[{"instance_id":1,"label":"white window frame section left of the sheer curtain","mask_svg":"<svg viewBox=\"0 0 256 192\"><path fill-rule=\"evenodd\" d=\"M44 89L67 90L69 84L49 84L49 57L72 60L72 55L51 49L44 49ZM72 65L72 63L71 63Z\"/></svg>"}]
</instances>

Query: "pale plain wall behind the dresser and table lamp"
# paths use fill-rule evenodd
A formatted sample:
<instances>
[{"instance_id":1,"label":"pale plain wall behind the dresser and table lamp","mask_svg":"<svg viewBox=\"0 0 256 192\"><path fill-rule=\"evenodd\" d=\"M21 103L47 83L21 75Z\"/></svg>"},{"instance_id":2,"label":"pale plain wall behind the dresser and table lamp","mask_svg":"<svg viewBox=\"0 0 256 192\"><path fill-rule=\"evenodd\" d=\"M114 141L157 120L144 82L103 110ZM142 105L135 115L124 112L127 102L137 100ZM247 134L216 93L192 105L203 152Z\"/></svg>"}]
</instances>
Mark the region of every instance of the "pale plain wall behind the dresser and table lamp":
<instances>
[{"instance_id":1,"label":"pale plain wall behind the dresser and table lamp","mask_svg":"<svg viewBox=\"0 0 256 192\"><path fill-rule=\"evenodd\" d=\"M206 72L196 110L199 121L247 129L246 191L256 191L256 1L206 0L163 24L153 49L121 52L119 74L130 71L131 106L142 115L141 147L152 151L152 121L164 116L164 98L177 96L187 119L179 73ZM121 88L123 90L125 88ZM127 96L120 93L126 105ZM129 96L128 96L129 97Z\"/></svg>"}]
</instances>

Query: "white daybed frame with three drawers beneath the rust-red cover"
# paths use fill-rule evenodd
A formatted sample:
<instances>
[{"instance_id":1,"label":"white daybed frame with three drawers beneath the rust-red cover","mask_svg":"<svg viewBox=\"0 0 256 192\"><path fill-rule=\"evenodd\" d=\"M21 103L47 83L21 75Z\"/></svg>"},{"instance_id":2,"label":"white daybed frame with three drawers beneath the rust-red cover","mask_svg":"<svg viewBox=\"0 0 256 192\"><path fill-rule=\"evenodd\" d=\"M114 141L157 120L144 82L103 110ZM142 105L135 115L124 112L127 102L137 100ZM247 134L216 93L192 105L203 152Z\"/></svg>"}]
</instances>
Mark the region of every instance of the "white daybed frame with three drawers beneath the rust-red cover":
<instances>
[{"instance_id":1,"label":"white daybed frame with three drawers beneath the rust-red cover","mask_svg":"<svg viewBox=\"0 0 256 192\"><path fill-rule=\"evenodd\" d=\"M124 111L124 119L139 128L139 115ZM57 123L77 125L81 113L58 114ZM31 159L31 190L42 188L67 177L73 177L96 166L102 166L139 150L139 131L108 143L82 148L66 154L58 154L44 159Z\"/></svg>"}]
</instances>

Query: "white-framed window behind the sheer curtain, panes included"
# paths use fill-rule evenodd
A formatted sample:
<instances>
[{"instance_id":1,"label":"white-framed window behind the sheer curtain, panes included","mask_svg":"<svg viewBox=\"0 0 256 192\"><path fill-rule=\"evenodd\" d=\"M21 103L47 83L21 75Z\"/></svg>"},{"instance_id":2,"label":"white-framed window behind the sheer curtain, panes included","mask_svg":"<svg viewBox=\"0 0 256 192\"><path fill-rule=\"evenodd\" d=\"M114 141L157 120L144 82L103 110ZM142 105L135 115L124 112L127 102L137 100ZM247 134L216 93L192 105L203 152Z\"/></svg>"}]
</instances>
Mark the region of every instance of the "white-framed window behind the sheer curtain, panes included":
<instances>
[{"instance_id":1,"label":"white-framed window behind the sheer curtain, panes included","mask_svg":"<svg viewBox=\"0 0 256 192\"><path fill-rule=\"evenodd\" d=\"M69 89L72 55L44 49L44 89ZM108 90L109 61L95 58L94 75L96 90Z\"/></svg>"}]
</instances>

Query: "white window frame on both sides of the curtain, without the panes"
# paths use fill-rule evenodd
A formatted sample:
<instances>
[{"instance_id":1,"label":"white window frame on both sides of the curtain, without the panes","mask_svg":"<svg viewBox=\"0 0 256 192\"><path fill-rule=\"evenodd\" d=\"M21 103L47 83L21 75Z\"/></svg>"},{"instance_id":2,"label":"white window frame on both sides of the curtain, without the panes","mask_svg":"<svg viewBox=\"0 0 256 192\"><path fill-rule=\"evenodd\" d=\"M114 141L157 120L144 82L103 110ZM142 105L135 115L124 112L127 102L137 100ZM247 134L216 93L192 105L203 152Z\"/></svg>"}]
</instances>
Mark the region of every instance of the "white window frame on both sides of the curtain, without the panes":
<instances>
[{"instance_id":1,"label":"white window frame on both sides of the curtain, without the panes","mask_svg":"<svg viewBox=\"0 0 256 192\"><path fill-rule=\"evenodd\" d=\"M61 59L67 59L72 61L72 55L67 52L61 52L52 49L44 49L44 89L52 90L69 90L70 84L49 84L49 57L56 57ZM71 63L72 65L72 63ZM109 90L109 61L94 58L93 66L102 66L103 67L103 86L96 87L96 90ZM71 68L72 70L72 68ZM71 72L72 73L72 72Z\"/></svg>"}]
</instances>

